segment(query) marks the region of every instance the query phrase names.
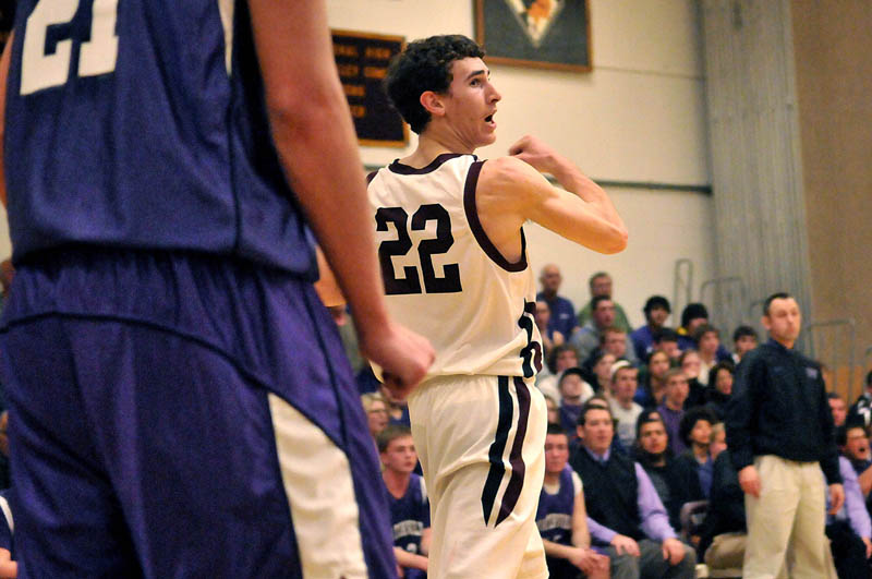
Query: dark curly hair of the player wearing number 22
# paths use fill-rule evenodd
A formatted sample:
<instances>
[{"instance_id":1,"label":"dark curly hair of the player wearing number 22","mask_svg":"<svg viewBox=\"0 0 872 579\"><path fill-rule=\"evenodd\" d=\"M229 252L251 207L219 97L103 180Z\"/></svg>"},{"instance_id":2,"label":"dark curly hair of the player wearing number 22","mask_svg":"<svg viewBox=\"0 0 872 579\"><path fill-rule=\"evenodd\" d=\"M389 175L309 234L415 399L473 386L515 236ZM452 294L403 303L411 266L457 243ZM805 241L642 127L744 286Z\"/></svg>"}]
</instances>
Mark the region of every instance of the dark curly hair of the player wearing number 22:
<instances>
[{"instance_id":1,"label":"dark curly hair of the player wearing number 22","mask_svg":"<svg viewBox=\"0 0 872 579\"><path fill-rule=\"evenodd\" d=\"M451 34L415 40L390 61L385 91L412 131L421 134L431 119L421 106L421 94L445 93L451 84L451 62L464 58L484 58L484 50L474 40Z\"/></svg>"}]
</instances>

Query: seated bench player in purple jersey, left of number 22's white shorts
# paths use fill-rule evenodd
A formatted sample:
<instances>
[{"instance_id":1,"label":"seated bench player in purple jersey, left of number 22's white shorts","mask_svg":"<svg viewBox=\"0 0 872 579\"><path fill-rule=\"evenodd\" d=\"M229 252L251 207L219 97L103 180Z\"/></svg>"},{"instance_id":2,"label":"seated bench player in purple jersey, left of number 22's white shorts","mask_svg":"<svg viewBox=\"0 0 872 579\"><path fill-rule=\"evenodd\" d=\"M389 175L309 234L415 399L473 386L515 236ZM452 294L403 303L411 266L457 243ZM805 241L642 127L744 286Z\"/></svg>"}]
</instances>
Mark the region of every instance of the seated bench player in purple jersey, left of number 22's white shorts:
<instances>
[{"instance_id":1,"label":"seated bench player in purple jersey, left of number 22's white shorts","mask_svg":"<svg viewBox=\"0 0 872 579\"><path fill-rule=\"evenodd\" d=\"M427 576L429 502L424 479L412 472L417 462L412 431L388 426L378 435L382 478L388 491L393 554L405 579Z\"/></svg>"}]
</instances>

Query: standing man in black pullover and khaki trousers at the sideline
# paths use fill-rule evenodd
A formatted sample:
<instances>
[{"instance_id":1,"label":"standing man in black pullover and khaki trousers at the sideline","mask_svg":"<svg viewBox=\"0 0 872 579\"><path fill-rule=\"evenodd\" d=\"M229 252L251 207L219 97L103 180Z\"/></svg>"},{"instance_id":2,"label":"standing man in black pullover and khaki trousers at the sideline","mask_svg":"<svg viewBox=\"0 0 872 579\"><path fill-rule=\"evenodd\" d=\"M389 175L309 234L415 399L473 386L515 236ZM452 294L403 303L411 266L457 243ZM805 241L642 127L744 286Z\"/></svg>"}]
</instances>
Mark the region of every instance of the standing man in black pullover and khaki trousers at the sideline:
<instances>
[{"instance_id":1,"label":"standing man in black pullover and khaki trousers at the sideline","mask_svg":"<svg viewBox=\"0 0 872 579\"><path fill-rule=\"evenodd\" d=\"M820 365L794 350L802 315L787 293L763 307L770 340L739 364L727 406L727 444L748 517L746 579L772 578L792 546L791 577L825 577L825 495L845 499L833 417Z\"/></svg>"}]
</instances>

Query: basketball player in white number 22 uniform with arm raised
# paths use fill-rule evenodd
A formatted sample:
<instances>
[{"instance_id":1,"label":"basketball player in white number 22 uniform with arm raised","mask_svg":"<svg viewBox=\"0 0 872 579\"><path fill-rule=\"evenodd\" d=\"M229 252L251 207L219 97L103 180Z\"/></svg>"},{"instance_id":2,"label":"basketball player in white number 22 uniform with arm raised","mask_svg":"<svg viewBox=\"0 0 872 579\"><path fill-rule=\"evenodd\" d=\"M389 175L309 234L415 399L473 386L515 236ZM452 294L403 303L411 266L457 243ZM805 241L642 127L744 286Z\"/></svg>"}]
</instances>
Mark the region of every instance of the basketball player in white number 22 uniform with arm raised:
<instances>
[{"instance_id":1,"label":"basketball player in white number 22 uniform with arm raised","mask_svg":"<svg viewBox=\"0 0 872 579\"><path fill-rule=\"evenodd\" d=\"M533 137L511 156L476 159L496 138L501 98L483 56L469 38L438 36L391 63L388 94L420 141L371 176L370 202L388 309L436 350L409 397L432 493L429 577L547 577L534 520L542 346L522 226L602 253L621 251L627 231L605 192Z\"/></svg>"}]
</instances>

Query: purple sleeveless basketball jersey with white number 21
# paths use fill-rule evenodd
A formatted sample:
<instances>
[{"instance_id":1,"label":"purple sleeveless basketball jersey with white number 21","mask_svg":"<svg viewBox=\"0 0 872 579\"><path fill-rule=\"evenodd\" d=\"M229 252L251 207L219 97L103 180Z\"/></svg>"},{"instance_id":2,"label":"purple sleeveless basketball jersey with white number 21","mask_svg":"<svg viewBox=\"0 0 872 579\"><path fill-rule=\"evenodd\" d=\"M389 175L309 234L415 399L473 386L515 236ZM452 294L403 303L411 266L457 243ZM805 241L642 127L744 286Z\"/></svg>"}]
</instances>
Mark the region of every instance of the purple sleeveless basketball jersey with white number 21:
<instances>
[{"instance_id":1,"label":"purple sleeveless basketball jersey with white number 21","mask_svg":"<svg viewBox=\"0 0 872 579\"><path fill-rule=\"evenodd\" d=\"M20 1L5 128L15 262L99 244L315 276L244 1Z\"/></svg>"}]
</instances>

